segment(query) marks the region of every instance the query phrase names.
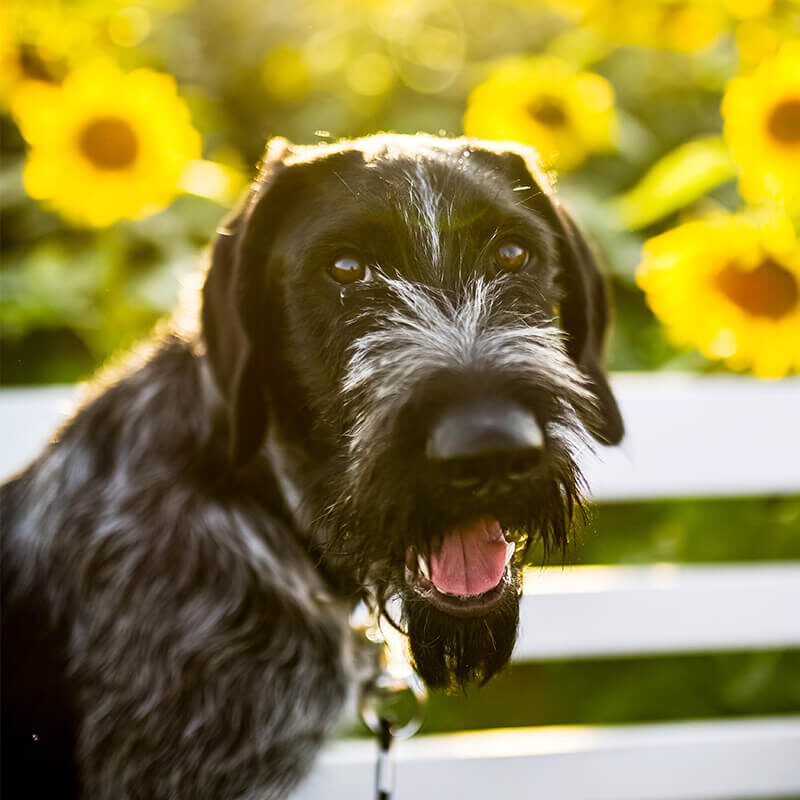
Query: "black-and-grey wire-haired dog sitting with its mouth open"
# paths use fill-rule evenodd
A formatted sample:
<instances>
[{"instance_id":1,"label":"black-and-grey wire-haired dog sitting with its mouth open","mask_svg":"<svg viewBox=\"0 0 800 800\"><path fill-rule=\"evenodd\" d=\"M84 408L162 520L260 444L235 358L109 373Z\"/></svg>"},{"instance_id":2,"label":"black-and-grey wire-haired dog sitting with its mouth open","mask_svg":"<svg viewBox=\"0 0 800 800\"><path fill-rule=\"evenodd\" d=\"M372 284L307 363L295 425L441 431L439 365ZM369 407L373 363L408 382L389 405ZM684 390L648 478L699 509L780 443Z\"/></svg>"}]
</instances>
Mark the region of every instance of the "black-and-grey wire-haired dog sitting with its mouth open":
<instances>
[{"instance_id":1,"label":"black-and-grey wire-haired dog sitting with its mouth open","mask_svg":"<svg viewBox=\"0 0 800 800\"><path fill-rule=\"evenodd\" d=\"M2 489L6 797L286 797L364 599L430 687L487 681L623 435L604 280L517 145L273 140L200 317Z\"/></svg>"}]
</instances>

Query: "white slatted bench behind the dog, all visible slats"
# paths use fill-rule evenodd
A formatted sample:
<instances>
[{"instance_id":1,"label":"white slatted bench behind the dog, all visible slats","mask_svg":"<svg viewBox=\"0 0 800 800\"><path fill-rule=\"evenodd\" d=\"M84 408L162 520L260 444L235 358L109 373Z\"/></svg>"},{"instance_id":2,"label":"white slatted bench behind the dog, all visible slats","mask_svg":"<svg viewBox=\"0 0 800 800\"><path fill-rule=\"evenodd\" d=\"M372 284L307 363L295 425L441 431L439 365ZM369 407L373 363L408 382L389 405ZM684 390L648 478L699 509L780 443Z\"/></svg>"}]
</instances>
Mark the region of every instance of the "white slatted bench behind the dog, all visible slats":
<instances>
[{"instance_id":1,"label":"white slatted bench behind the dog, all visible slats","mask_svg":"<svg viewBox=\"0 0 800 800\"><path fill-rule=\"evenodd\" d=\"M800 494L800 379L617 375L628 435L587 454L595 498ZM0 392L0 476L28 461L72 387ZM800 530L798 530L800 536ZM800 647L800 563L531 570L517 661ZM393 800L800 796L800 715L425 736L397 746ZM373 796L374 745L330 745L294 800Z\"/></svg>"}]
</instances>

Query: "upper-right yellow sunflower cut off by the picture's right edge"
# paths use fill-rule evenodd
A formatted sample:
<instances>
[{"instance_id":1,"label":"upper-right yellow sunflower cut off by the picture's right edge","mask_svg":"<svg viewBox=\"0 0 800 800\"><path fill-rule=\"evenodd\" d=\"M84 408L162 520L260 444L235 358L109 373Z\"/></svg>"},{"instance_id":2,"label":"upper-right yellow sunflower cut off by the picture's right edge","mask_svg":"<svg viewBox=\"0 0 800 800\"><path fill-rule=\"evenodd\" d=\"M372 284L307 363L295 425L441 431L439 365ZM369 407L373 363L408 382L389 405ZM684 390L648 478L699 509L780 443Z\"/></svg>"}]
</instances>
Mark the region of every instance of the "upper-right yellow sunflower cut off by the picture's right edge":
<instances>
[{"instance_id":1,"label":"upper-right yellow sunflower cut off by the picture's right edge","mask_svg":"<svg viewBox=\"0 0 800 800\"><path fill-rule=\"evenodd\" d=\"M800 205L800 41L787 42L753 74L733 78L722 115L742 195Z\"/></svg>"}]
</instances>

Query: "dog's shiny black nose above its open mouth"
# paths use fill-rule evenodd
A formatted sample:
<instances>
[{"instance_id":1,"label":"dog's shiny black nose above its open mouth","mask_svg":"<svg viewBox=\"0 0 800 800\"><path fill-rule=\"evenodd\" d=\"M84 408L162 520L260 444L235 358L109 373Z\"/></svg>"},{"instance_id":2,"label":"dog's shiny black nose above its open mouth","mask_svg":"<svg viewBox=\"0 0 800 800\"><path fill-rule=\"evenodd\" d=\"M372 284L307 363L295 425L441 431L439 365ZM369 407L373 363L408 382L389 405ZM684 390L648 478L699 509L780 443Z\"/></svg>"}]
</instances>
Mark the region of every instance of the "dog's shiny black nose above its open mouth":
<instances>
[{"instance_id":1,"label":"dog's shiny black nose above its open mouth","mask_svg":"<svg viewBox=\"0 0 800 800\"><path fill-rule=\"evenodd\" d=\"M521 480L539 466L544 433L536 417L508 402L456 406L436 421L425 454L458 488Z\"/></svg>"}]
</instances>

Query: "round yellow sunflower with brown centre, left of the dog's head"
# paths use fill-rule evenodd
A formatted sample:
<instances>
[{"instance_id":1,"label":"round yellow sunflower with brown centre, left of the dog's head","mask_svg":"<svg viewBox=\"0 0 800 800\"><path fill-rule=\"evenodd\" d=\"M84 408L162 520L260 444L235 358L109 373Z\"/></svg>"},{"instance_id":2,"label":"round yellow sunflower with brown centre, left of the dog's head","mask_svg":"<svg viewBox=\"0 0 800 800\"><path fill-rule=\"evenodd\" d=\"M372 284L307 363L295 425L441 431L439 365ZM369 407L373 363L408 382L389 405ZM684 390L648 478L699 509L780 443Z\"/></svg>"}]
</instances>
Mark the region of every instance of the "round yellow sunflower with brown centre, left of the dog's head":
<instances>
[{"instance_id":1,"label":"round yellow sunflower with brown centre, left of the dog's head","mask_svg":"<svg viewBox=\"0 0 800 800\"><path fill-rule=\"evenodd\" d=\"M110 225L168 205L200 135L174 80L89 64L47 93L31 85L12 111L30 144L25 188L73 223Z\"/></svg>"}]
</instances>

